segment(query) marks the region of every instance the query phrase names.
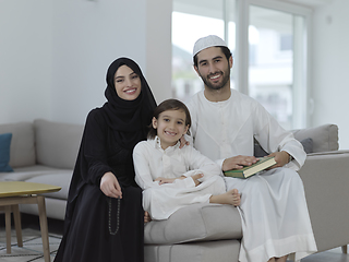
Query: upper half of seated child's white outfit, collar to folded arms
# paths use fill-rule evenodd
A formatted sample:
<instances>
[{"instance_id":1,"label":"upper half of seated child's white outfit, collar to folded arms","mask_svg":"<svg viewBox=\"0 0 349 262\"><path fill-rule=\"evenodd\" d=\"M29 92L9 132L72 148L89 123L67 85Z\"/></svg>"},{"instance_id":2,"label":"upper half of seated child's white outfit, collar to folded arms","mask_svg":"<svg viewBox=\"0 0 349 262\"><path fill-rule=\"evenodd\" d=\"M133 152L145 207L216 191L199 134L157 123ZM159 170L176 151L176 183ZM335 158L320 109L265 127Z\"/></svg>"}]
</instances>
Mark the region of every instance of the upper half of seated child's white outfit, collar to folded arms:
<instances>
[{"instance_id":1,"label":"upper half of seated child's white outfit, collar to folded arms","mask_svg":"<svg viewBox=\"0 0 349 262\"><path fill-rule=\"evenodd\" d=\"M205 181L213 176L222 176L219 166L202 155L191 145L180 148L180 142L166 150L161 148L160 139L142 141L133 150L135 181L142 189L159 186L154 181L158 177L179 178L203 174L200 181ZM179 187L194 186L193 179L184 179L184 183L177 179Z\"/></svg>"}]
</instances>

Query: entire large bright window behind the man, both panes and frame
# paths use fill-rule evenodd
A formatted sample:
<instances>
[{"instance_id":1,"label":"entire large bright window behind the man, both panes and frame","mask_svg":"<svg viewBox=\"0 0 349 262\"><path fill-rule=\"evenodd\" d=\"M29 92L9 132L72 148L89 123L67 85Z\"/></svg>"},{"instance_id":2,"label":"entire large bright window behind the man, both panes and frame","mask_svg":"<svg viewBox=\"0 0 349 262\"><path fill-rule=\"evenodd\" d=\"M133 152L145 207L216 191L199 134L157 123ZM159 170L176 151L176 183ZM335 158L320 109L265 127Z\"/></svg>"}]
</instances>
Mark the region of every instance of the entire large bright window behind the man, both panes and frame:
<instances>
[{"instance_id":1,"label":"entire large bright window behind the man, both panes and frame","mask_svg":"<svg viewBox=\"0 0 349 262\"><path fill-rule=\"evenodd\" d=\"M172 96L203 88L192 48L215 34L232 51L231 87L258 100L286 129L306 127L310 11L275 0L173 0Z\"/></svg>"}]
</instances>

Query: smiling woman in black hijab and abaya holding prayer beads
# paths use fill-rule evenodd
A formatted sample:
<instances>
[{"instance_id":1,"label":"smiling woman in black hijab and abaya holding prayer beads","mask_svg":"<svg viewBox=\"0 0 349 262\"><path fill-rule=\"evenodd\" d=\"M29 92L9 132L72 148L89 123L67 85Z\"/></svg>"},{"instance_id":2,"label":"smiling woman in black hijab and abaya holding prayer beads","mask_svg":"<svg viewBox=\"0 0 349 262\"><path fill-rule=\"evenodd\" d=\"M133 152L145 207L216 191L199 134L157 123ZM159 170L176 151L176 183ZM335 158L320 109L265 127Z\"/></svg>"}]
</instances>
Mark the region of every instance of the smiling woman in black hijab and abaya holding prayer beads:
<instances>
[{"instance_id":1,"label":"smiling woman in black hijab and abaya holding prayer beads","mask_svg":"<svg viewBox=\"0 0 349 262\"><path fill-rule=\"evenodd\" d=\"M132 151L146 139L156 102L128 58L107 72L107 103L86 119L56 262L143 261L142 190Z\"/></svg>"}]
</instances>

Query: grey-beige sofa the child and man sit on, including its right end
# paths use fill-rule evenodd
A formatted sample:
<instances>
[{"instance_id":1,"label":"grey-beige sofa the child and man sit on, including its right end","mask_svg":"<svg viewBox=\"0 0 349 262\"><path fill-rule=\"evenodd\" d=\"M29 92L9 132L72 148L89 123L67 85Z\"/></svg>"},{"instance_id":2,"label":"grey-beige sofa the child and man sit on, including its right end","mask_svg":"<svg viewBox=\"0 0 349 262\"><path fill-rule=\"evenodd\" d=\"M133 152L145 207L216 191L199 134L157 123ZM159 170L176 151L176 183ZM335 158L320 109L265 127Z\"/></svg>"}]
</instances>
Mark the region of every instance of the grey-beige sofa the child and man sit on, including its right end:
<instances>
[{"instance_id":1,"label":"grey-beige sofa the child and man sit on, including its right end","mask_svg":"<svg viewBox=\"0 0 349 262\"><path fill-rule=\"evenodd\" d=\"M318 251L349 243L349 151L338 151L338 128L325 124L293 131L312 141L299 171ZM309 142L309 140L308 140ZM309 146L309 144L306 145ZM168 221L145 226L145 262L238 262L241 221L228 205L183 207Z\"/></svg>"}]
</instances>

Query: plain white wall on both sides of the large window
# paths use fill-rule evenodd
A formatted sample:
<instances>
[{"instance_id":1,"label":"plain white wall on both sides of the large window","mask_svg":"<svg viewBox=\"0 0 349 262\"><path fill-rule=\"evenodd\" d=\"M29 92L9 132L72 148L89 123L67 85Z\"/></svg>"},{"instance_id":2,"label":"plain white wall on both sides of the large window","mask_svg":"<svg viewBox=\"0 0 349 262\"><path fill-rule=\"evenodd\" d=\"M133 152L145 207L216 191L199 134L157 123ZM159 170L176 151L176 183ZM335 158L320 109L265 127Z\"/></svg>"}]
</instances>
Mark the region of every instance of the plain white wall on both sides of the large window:
<instances>
[{"instance_id":1,"label":"plain white wall on both sides of the large window","mask_svg":"<svg viewBox=\"0 0 349 262\"><path fill-rule=\"evenodd\" d=\"M170 97L171 1L0 0L0 123L79 122L105 102L110 62L133 58L157 102ZM161 10L161 12L159 12ZM349 1L314 10L312 124L349 148Z\"/></svg>"}]
</instances>

